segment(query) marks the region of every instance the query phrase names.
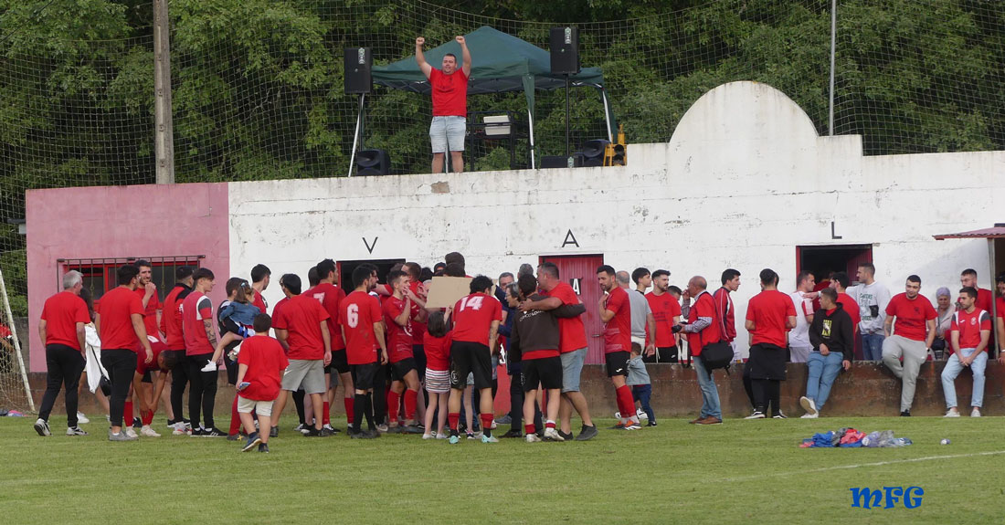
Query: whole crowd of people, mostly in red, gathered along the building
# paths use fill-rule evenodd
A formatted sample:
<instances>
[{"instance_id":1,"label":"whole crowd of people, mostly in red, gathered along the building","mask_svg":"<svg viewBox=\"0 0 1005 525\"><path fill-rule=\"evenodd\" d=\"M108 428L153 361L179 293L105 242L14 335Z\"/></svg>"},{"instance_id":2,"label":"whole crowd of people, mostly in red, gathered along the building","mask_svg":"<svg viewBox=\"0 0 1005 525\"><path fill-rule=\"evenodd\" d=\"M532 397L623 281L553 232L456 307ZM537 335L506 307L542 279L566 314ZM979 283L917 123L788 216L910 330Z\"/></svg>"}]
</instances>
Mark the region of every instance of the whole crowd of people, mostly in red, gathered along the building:
<instances>
[{"instance_id":1,"label":"whole crowd of people, mostly in red, gathered along the building","mask_svg":"<svg viewBox=\"0 0 1005 525\"><path fill-rule=\"evenodd\" d=\"M496 443L493 400L505 359L511 429L502 437L586 441L598 435L580 390L587 352L582 317L594 308L604 323L604 361L618 408L613 429L638 430L643 419L656 425L646 363L693 366L702 404L689 423L722 424L714 370L724 364L713 354L725 347L726 363L739 359L731 296L741 285L739 271L724 271L722 286L710 291L702 276L680 289L669 284L666 270L628 273L604 265L596 272L601 298L590 305L554 263L537 269L524 264L517 275L506 272L494 282L469 278L469 293L446 308L426 304L434 275L467 277L463 256L449 253L433 269L396 265L384 284L377 267L364 263L352 271L348 294L336 263L326 259L309 271L307 289L296 274L282 275L284 297L269 308L262 291L271 271L259 264L250 282L229 278L226 299L214 308L211 270L178 267L162 301L151 264L141 260L118 268L118 286L95 309L82 275L66 272L63 291L46 300L39 322L48 378L34 429L51 435L49 415L64 387L66 435L86 435L79 427L85 417L77 411L78 385L86 377L107 408L109 439L117 442L138 439L134 427L139 435L159 437L152 422L163 402L175 435L243 437L242 450L267 452L289 399L298 434L341 432L331 421L341 386L346 433L354 439L415 434L456 444L463 435ZM874 275L872 264L862 263L852 286L844 272L829 272L818 283L813 272L803 271L796 290L785 293L776 272L761 271L761 292L744 319L750 353L743 379L753 409L747 419L786 418L780 382L788 362L807 364L803 418L819 417L835 378L855 361L856 339L864 359L881 360L901 379L901 416L911 415L921 364L946 355L946 416L960 415L954 381L964 367L974 376L971 416L980 416L993 324L1005 344L1005 299L997 299L992 322L993 294L977 287L972 269L962 273L955 306L948 288L937 291L933 306L921 295L917 275L893 296ZM1005 274L997 288L1005 295ZM219 366L236 391L227 432L214 420ZM582 420L575 436L574 413Z\"/></svg>"}]
</instances>

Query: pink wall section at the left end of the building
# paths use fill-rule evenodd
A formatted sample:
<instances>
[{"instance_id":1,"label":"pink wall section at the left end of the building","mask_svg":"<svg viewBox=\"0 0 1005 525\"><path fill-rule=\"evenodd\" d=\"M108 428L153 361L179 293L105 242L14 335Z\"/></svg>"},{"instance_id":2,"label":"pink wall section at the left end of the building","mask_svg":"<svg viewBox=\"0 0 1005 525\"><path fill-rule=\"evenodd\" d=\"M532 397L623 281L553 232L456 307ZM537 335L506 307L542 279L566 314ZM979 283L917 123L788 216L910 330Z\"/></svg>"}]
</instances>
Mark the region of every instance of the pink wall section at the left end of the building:
<instances>
[{"instance_id":1,"label":"pink wall section at the left end of the building","mask_svg":"<svg viewBox=\"0 0 1005 525\"><path fill-rule=\"evenodd\" d=\"M27 192L31 371L45 370L38 316L59 291L57 259L205 255L213 303L230 276L227 184L60 188Z\"/></svg>"}]
</instances>

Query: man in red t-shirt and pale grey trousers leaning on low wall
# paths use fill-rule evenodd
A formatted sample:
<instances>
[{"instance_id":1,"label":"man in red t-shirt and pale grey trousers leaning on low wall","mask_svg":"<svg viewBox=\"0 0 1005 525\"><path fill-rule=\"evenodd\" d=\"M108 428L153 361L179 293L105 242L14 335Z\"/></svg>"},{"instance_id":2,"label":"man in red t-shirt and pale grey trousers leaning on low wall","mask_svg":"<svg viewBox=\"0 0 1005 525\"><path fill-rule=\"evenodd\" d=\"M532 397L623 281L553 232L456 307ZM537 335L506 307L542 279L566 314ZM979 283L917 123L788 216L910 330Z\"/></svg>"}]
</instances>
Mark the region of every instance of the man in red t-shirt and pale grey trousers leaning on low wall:
<instances>
[{"instance_id":1,"label":"man in red t-shirt and pale grey trousers leaning on low wall","mask_svg":"<svg viewBox=\"0 0 1005 525\"><path fill-rule=\"evenodd\" d=\"M882 362L902 380L900 416L911 416L918 371L936 338L936 317L939 315L932 307L932 301L919 293L922 290L921 277L909 276L904 288L903 293L894 295L886 304Z\"/></svg>"}]
</instances>

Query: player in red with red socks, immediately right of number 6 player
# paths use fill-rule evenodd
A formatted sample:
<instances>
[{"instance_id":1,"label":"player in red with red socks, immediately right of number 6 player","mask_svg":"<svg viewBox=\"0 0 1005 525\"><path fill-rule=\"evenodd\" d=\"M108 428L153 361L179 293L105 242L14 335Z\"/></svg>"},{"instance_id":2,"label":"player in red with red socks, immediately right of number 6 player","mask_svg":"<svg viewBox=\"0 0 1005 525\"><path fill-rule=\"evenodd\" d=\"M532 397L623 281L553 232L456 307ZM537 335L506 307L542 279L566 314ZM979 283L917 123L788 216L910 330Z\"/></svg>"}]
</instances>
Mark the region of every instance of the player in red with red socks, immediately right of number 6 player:
<instances>
[{"instance_id":1,"label":"player in red with red socks, immediately right of number 6 player","mask_svg":"<svg viewBox=\"0 0 1005 525\"><path fill-rule=\"evenodd\" d=\"M400 270L391 272L387 282L393 293L384 299L381 309L384 324L387 325L387 353L391 360L391 389L387 395L388 432L422 434L422 429L415 426L415 404L420 383L418 365L412 353L412 300L405 295L408 274ZM399 427L398 403L402 392L405 395L405 426Z\"/></svg>"}]
</instances>

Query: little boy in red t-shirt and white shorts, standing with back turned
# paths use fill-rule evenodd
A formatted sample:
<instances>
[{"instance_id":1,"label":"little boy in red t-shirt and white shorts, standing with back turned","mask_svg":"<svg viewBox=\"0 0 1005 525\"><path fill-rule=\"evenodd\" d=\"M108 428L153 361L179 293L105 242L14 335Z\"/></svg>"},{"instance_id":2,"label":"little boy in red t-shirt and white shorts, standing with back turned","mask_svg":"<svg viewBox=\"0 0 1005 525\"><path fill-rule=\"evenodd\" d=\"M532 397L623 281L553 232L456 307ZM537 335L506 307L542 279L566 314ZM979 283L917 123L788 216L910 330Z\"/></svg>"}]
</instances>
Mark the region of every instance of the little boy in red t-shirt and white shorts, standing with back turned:
<instances>
[{"instance_id":1,"label":"little boy in red t-shirt and white shorts, standing with back turned","mask_svg":"<svg viewBox=\"0 0 1005 525\"><path fill-rule=\"evenodd\" d=\"M268 335L272 318L267 313L254 317L255 336L244 339L237 354L237 414L248 435L241 452L248 452L255 445L258 452L268 452L268 432L261 435L254 428L251 411L258 414L258 426L271 429L272 402L279 395L282 370L289 361L279 341Z\"/></svg>"}]
</instances>

